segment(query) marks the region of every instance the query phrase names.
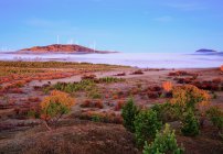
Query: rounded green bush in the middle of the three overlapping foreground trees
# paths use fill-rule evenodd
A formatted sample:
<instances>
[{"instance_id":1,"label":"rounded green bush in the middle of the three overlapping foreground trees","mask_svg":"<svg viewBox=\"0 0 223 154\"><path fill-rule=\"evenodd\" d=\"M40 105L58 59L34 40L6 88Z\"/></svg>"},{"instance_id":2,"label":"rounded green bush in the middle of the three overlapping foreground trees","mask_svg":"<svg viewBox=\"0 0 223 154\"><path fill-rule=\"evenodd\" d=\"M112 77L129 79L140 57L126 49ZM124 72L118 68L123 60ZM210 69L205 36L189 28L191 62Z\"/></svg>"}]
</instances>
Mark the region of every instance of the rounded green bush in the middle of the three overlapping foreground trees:
<instances>
[{"instance_id":1,"label":"rounded green bush in the middle of the three overlapping foreground trees","mask_svg":"<svg viewBox=\"0 0 223 154\"><path fill-rule=\"evenodd\" d=\"M134 121L135 136L138 146L145 141L155 138L156 132L161 129L161 122L158 120L157 112L152 110L140 111Z\"/></svg>"}]
</instances>

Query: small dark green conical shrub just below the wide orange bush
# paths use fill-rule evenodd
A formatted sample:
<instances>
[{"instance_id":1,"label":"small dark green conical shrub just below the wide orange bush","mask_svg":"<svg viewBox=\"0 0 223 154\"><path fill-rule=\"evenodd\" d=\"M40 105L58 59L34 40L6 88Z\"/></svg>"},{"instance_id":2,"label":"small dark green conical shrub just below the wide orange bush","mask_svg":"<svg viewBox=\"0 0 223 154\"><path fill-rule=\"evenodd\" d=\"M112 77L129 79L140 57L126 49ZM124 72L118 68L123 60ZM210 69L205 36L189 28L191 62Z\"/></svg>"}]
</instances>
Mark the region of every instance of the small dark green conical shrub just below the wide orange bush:
<instances>
[{"instance_id":1,"label":"small dark green conical shrub just below the wide orange bush","mask_svg":"<svg viewBox=\"0 0 223 154\"><path fill-rule=\"evenodd\" d=\"M199 134L199 121L191 109L183 116L181 132L187 136Z\"/></svg>"}]
</instances>

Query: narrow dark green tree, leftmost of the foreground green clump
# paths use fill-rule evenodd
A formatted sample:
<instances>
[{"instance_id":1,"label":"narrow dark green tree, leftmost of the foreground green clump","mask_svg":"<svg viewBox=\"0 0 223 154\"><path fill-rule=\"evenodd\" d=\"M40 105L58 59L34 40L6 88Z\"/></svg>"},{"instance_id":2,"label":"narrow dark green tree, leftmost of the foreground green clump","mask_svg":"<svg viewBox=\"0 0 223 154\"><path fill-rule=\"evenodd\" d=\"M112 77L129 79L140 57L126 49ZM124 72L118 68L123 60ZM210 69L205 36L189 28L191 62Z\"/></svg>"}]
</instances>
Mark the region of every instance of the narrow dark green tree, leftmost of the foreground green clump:
<instances>
[{"instance_id":1,"label":"narrow dark green tree, leftmost of the foreground green clump","mask_svg":"<svg viewBox=\"0 0 223 154\"><path fill-rule=\"evenodd\" d=\"M134 121L138 112L139 111L137 107L134 105L132 99L129 99L123 107L121 117L124 118L124 127L130 132L135 132Z\"/></svg>"}]
</instances>

